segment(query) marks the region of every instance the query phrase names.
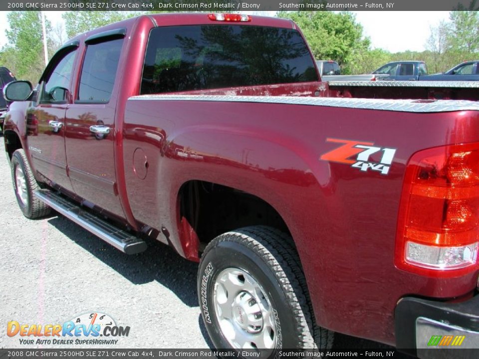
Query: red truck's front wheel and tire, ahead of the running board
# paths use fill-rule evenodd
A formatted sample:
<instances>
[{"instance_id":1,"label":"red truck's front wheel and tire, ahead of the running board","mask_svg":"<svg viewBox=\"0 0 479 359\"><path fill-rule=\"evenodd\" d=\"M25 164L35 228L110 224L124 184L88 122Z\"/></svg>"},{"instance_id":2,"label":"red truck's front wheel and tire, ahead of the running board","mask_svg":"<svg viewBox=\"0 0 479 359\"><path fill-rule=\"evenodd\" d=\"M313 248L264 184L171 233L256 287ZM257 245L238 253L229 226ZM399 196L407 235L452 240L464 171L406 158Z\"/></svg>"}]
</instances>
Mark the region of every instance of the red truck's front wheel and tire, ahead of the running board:
<instances>
[{"instance_id":1,"label":"red truck's front wheel and tire, ahead of the running board","mask_svg":"<svg viewBox=\"0 0 479 359\"><path fill-rule=\"evenodd\" d=\"M23 176L24 182L20 179L21 176ZM22 149L13 152L11 157L11 178L16 202L25 217L34 219L50 213L51 208L34 195L35 191L39 189L38 183ZM18 185L21 187L17 187Z\"/></svg>"}]
</instances>

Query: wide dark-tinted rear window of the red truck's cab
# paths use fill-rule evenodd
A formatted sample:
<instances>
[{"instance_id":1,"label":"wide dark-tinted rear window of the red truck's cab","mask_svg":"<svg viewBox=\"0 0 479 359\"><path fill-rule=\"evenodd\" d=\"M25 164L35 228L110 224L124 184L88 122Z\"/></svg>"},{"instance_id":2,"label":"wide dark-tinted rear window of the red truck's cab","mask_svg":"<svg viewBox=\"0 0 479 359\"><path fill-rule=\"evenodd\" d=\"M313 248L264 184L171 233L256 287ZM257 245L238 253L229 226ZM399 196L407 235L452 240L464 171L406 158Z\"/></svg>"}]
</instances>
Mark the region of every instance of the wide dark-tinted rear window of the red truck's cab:
<instances>
[{"instance_id":1,"label":"wide dark-tinted rear window of the red truck's cab","mask_svg":"<svg viewBox=\"0 0 479 359\"><path fill-rule=\"evenodd\" d=\"M241 25L151 30L141 93L317 81L296 30Z\"/></svg>"}]
</instances>

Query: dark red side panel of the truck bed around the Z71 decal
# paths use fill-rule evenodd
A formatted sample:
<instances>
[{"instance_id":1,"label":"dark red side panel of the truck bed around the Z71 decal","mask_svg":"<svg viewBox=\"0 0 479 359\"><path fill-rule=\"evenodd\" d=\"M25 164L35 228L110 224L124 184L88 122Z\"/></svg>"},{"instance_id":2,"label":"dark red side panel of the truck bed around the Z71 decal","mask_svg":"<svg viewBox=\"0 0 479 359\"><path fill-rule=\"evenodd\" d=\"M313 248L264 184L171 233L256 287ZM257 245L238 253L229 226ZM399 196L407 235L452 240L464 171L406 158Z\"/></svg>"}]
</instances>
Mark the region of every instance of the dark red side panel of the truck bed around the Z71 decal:
<instances>
[{"instance_id":1,"label":"dark red side panel of the truck bed around the Z71 decal","mask_svg":"<svg viewBox=\"0 0 479 359\"><path fill-rule=\"evenodd\" d=\"M394 343L393 310L402 296L449 298L476 287L477 271L422 277L398 270L393 254L405 164L424 148L477 141L476 112L129 100L124 132L124 162L142 148L149 163L143 180L125 173L135 218L178 228L177 193L191 179L264 199L293 235L322 326ZM337 147L327 137L397 148L389 175L319 161ZM178 233L170 230L169 238L177 249Z\"/></svg>"}]
</instances>

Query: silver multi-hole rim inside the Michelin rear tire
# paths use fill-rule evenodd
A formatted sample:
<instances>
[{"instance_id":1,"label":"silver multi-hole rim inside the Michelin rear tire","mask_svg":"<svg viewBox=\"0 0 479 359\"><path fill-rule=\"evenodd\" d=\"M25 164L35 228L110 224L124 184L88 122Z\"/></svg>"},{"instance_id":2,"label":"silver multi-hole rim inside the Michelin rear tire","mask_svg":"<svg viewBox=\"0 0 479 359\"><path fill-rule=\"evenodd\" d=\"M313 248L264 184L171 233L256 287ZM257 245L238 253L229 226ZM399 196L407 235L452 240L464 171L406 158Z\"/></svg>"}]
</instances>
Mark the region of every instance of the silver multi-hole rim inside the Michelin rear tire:
<instances>
[{"instance_id":1,"label":"silver multi-hole rim inside the Michelin rear tire","mask_svg":"<svg viewBox=\"0 0 479 359\"><path fill-rule=\"evenodd\" d=\"M277 332L271 301L248 272L223 270L215 281L213 301L221 332L233 348L275 348Z\"/></svg>"}]
</instances>

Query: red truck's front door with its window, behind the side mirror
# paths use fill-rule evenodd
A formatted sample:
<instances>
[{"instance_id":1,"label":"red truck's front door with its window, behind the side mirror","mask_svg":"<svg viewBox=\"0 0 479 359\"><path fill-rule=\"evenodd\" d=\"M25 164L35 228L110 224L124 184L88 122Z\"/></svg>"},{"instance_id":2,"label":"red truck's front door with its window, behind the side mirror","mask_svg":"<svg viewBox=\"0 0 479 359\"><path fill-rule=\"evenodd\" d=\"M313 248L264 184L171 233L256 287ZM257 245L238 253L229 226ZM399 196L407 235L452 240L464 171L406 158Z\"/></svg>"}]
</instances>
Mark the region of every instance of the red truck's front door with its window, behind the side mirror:
<instances>
[{"instance_id":1,"label":"red truck's front door with its window, behind the side mirror","mask_svg":"<svg viewBox=\"0 0 479 359\"><path fill-rule=\"evenodd\" d=\"M36 102L27 109L26 135L33 169L67 190L72 190L65 155L65 112L71 104L71 78L78 43L60 49L51 59L38 85Z\"/></svg>"}]
</instances>

